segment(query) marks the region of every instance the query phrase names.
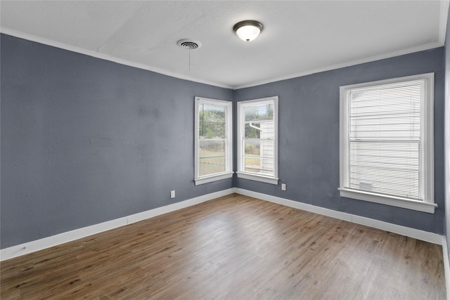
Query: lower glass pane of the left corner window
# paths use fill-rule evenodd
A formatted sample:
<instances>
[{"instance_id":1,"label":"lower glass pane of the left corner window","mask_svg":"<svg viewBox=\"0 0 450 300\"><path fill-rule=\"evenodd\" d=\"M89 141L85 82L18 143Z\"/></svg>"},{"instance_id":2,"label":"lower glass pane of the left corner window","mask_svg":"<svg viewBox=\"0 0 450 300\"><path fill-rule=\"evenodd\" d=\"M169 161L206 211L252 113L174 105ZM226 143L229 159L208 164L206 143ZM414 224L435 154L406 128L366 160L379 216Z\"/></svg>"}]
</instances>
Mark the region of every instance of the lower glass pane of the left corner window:
<instances>
[{"instance_id":1,"label":"lower glass pane of the left corner window","mask_svg":"<svg viewBox=\"0 0 450 300\"><path fill-rule=\"evenodd\" d=\"M225 141L200 141L199 176L225 171Z\"/></svg>"}]
</instances>

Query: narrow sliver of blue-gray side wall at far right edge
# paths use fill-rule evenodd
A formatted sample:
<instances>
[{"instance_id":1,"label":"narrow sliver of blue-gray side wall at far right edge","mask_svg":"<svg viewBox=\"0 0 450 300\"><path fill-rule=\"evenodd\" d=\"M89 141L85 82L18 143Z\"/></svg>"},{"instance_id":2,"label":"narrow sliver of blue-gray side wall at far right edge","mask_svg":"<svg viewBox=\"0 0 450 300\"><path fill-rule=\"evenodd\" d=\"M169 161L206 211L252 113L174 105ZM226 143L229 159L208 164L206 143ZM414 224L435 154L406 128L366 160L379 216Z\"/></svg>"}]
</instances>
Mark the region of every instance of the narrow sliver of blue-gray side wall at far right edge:
<instances>
[{"instance_id":1,"label":"narrow sliver of blue-gray side wall at far right edge","mask_svg":"<svg viewBox=\"0 0 450 300\"><path fill-rule=\"evenodd\" d=\"M450 8L445 37L445 235L450 249Z\"/></svg>"}]
</instances>

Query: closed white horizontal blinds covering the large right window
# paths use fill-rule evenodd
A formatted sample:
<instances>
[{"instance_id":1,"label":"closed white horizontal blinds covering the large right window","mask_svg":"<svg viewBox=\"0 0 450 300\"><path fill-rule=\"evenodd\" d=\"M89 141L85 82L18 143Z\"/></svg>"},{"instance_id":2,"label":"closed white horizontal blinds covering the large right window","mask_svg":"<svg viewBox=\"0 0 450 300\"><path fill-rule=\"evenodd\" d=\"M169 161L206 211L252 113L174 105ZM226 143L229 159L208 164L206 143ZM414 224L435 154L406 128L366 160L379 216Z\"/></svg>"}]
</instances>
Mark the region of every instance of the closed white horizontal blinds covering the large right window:
<instances>
[{"instance_id":1,"label":"closed white horizontal blinds covering the large right window","mask_svg":"<svg viewBox=\"0 0 450 300\"><path fill-rule=\"evenodd\" d=\"M423 200L423 81L349 92L349 188Z\"/></svg>"}]
</instances>

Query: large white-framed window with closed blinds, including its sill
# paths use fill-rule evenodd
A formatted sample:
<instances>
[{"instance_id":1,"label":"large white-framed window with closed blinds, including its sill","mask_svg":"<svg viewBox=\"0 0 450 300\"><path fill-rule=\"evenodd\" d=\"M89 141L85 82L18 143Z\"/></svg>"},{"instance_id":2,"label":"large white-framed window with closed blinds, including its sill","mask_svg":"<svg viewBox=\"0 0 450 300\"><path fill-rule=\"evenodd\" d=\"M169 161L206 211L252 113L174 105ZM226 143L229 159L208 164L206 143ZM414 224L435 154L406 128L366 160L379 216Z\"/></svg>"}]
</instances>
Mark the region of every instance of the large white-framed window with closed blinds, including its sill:
<instances>
[{"instance_id":1,"label":"large white-framed window with closed blinds, including its sill","mask_svg":"<svg viewBox=\"0 0 450 300\"><path fill-rule=\"evenodd\" d=\"M340 195L434 213L434 74L340 87Z\"/></svg>"}]
</instances>

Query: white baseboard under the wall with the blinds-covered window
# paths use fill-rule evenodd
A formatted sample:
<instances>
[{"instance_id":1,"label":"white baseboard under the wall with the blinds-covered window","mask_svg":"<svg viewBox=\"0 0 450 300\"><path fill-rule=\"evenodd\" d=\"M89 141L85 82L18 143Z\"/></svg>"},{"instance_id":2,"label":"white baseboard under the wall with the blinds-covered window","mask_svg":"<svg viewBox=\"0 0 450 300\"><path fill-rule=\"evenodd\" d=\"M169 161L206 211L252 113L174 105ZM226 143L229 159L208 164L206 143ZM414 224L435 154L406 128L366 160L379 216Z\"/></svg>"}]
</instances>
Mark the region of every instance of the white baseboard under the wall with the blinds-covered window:
<instances>
[{"instance_id":1,"label":"white baseboard under the wall with the blinds-covered window","mask_svg":"<svg viewBox=\"0 0 450 300\"><path fill-rule=\"evenodd\" d=\"M399 235L405 235L407 237L413 237L418 240L423 240L425 242L432 242L433 244L442 244L442 235L437 233L429 233L428 231L418 230L414 228L409 228L406 226L400 226L392 223L387 223L383 221L378 221L375 219L366 218L364 216L355 216L354 214L347 214L341 211L335 211L333 209L326 209L323 207L316 207L311 204L305 204L302 202L297 202L293 200L288 200L281 197L275 197L271 195L266 195L262 193L253 192L251 190L244 190L242 188L235 188L235 193L240 195L255 197L261 200L266 200L269 202L274 202L277 204L282 204L287 207L293 207L296 209L302 209L304 211L311 211L316 214L322 214L323 216L330 216L335 219L340 219L344 221L349 221L352 223L357 223L364 226L369 226L381 230L390 231L391 233L397 233Z\"/></svg>"}]
</instances>

